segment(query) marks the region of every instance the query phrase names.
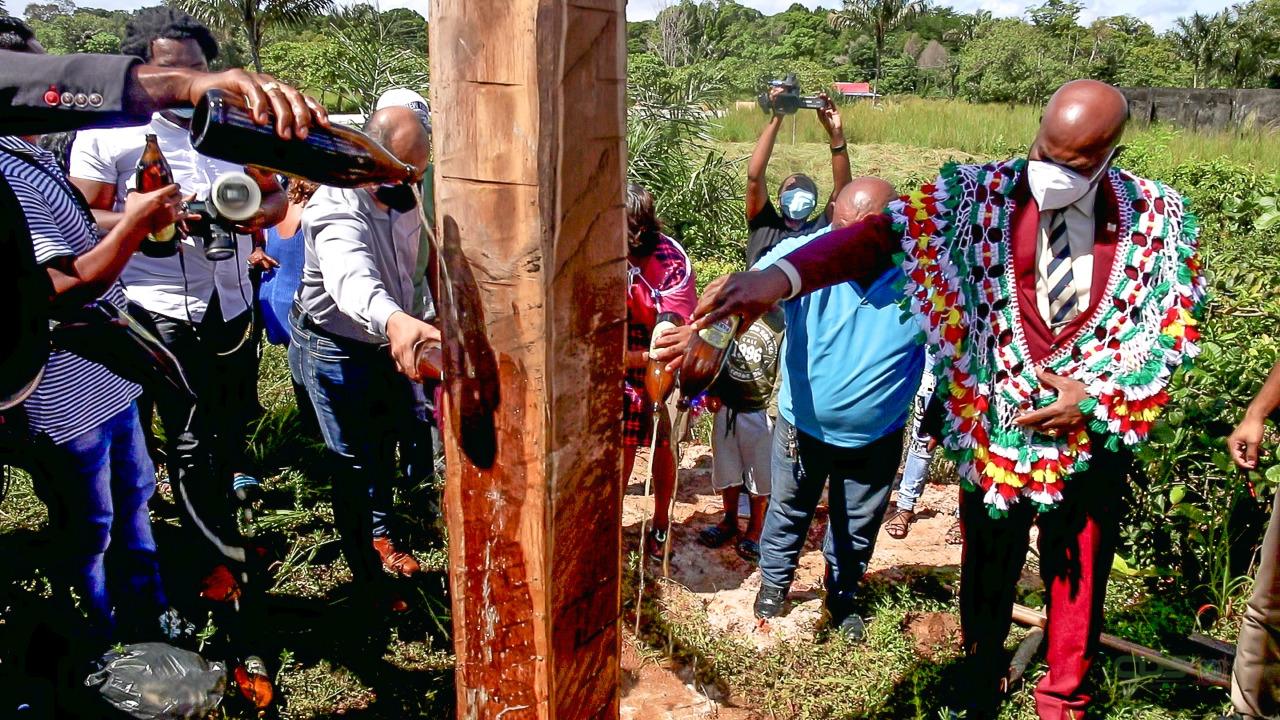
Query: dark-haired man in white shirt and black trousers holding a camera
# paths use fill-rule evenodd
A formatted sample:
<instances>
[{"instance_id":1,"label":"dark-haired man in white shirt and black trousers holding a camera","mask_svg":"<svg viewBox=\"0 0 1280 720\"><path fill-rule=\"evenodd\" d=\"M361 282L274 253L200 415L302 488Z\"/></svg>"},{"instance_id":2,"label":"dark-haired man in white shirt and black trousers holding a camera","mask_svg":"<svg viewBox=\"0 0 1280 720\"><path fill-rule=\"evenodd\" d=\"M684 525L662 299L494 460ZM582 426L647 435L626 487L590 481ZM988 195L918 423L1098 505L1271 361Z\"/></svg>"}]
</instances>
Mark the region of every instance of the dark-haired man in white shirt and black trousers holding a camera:
<instances>
[{"instance_id":1,"label":"dark-haired man in white shirt and black trousers holding a camera","mask_svg":"<svg viewBox=\"0 0 1280 720\"><path fill-rule=\"evenodd\" d=\"M206 70L219 47L198 20L160 6L129 22L122 50L161 68ZM147 135L156 136L174 179L191 199L206 200L220 176L242 170L197 154L191 147L189 118L191 110L175 109L157 113L147 126L79 133L72 147L70 174L95 209L100 227L109 229L118 222ZM285 193L274 177L253 177L262 190L262 208L237 227L243 233L274 225L287 208ZM188 224L188 229L196 225ZM206 242L192 233L174 256L140 254L122 279L129 301L141 309L137 315L178 357L196 392L193 415L182 398L154 398L170 438L172 462L179 461L174 438L189 430L188 437L202 447L184 452L210 457L218 487L225 488L221 483L229 478L232 487L243 493L257 484L247 454L248 424L257 413L256 347L244 341L252 318L248 260L253 247L247 234L237 233L234 255L215 261L205 256ZM219 518L227 514L212 512Z\"/></svg>"}]
</instances>

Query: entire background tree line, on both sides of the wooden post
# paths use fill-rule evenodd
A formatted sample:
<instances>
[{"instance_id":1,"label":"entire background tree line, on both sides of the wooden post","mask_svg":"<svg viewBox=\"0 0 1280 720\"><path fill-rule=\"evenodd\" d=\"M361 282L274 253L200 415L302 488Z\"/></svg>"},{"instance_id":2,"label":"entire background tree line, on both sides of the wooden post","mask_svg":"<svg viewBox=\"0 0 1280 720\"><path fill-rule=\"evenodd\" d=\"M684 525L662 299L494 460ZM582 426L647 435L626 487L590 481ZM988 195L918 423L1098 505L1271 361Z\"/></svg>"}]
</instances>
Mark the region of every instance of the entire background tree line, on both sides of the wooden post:
<instances>
[{"instance_id":1,"label":"entire background tree line, on both sides of the wooden post","mask_svg":"<svg viewBox=\"0 0 1280 720\"><path fill-rule=\"evenodd\" d=\"M0 12L4 12L0 0ZM394 85L425 86L426 19L333 0L170 0L221 37L223 65L270 72L360 110ZM1044 0L1020 18L959 13L927 0L794 4L765 15L736 0L678 0L627 23L632 85L686 96L714 86L746 99L795 73L801 87L867 81L882 95L1039 102L1064 81L1121 86L1280 87L1280 0L1179 18L1166 32L1133 15L1080 20L1079 0ZM116 53L132 13L73 0L26 5L50 53Z\"/></svg>"}]
</instances>

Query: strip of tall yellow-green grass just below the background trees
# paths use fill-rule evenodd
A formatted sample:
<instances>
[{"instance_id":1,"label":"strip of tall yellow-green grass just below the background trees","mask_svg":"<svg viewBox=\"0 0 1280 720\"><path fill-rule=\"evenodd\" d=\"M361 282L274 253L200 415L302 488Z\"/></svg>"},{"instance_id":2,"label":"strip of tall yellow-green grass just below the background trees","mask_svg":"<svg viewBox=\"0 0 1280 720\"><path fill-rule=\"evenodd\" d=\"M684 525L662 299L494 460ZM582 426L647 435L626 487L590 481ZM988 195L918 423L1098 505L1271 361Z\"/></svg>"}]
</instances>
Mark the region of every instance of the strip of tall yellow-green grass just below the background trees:
<instances>
[{"instance_id":1,"label":"strip of tall yellow-green grass just below the background trees","mask_svg":"<svg viewBox=\"0 0 1280 720\"><path fill-rule=\"evenodd\" d=\"M951 100L890 99L879 105L854 102L842 109L850 146L897 143L911 147L955 149L983 159L1010 158L1027 151L1036 137L1041 109L1029 105L974 105ZM759 110L730 110L717 120L716 136L724 142L754 143L768 118ZM1132 126L1126 140L1148 128ZM1229 158L1244 165L1280 172L1280 136L1274 132L1192 132L1176 129L1169 145L1174 163ZM813 113L785 120L782 143L824 143L826 131Z\"/></svg>"}]
</instances>

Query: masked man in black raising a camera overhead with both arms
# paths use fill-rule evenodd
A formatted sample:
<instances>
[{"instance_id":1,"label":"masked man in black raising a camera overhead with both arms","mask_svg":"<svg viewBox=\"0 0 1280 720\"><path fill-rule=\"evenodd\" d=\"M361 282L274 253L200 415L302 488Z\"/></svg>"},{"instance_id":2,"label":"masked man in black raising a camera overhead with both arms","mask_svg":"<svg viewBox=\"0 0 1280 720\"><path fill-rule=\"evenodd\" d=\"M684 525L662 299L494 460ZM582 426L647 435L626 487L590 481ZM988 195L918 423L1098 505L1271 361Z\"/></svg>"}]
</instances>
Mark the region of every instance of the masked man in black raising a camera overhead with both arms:
<instances>
[{"instance_id":1,"label":"masked man in black raising a camera overhead with both arms","mask_svg":"<svg viewBox=\"0 0 1280 720\"><path fill-rule=\"evenodd\" d=\"M813 217L818 204L818 186L809 176L796 173L788 176L778 186L778 205L773 206L769 200L765 173L769 168L769 156L773 155L773 143L778 138L778 129L782 128L782 119L786 117L778 99L788 92L795 92L795 88L778 83L769 88L768 105L773 108L773 115L764 126L760 140L755 142L755 150L746 167L746 227L751 233L746 242L748 264L754 264L756 259L788 237L810 234L815 229L831 224L833 201L852 179L840 109L829 97L819 95L818 97L826 102L823 108L815 110L818 122L827 128L827 135L831 137L831 197L822 213Z\"/></svg>"}]
</instances>

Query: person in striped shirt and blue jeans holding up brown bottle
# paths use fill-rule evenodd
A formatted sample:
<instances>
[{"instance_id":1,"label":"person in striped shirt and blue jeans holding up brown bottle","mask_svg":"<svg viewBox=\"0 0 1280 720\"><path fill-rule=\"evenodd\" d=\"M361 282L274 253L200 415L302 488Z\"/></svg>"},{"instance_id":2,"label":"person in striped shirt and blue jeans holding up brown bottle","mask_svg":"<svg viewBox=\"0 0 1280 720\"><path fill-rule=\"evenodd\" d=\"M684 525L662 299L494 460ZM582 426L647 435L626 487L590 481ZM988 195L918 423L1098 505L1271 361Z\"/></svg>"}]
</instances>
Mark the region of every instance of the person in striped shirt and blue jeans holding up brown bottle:
<instances>
[{"instance_id":1,"label":"person in striped shirt and blue jeans holding up brown bottle","mask_svg":"<svg viewBox=\"0 0 1280 720\"><path fill-rule=\"evenodd\" d=\"M44 53L31 29L8 17L0 17L0 47ZM97 301L123 307L120 270L147 233L182 218L178 187L132 193L99 240L88 210L37 140L0 137L0 184L18 201L20 217L9 220L29 233L50 306L55 314ZM142 442L138 395L138 386L105 366L54 351L22 406L31 436L23 465L61 546L50 568L79 594L90 632L73 637L97 643L86 648L91 655L109 641L160 635L168 606L147 515L155 471Z\"/></svg>"}]
</instances>

